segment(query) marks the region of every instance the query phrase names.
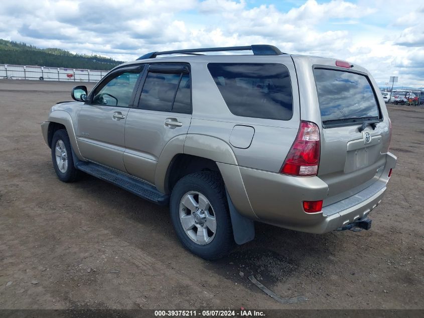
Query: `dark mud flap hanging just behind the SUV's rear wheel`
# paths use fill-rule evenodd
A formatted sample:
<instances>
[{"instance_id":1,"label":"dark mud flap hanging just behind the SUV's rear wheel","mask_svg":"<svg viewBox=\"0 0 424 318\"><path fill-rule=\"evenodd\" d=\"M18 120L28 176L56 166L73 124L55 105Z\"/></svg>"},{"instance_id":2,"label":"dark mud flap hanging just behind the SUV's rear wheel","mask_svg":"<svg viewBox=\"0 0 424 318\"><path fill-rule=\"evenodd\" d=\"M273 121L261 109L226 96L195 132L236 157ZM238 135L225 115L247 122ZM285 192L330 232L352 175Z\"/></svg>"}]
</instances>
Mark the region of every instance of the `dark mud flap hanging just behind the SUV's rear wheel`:
<instances>
[{"instance_id":1,"label":"dark mud flap hanging just behind the SUV's rear wheel","mask_svg":"<svg viewBox=\"0 0 424 318\"><path fill-rule=\"evenodd\" d=\"M235 243L241 245L250 242L255 238L254 222L240 215L231 201L227 189L225 189L225 193L227 194L228 207L230 208L230 217Z\"/></svg>"}]
</instances>

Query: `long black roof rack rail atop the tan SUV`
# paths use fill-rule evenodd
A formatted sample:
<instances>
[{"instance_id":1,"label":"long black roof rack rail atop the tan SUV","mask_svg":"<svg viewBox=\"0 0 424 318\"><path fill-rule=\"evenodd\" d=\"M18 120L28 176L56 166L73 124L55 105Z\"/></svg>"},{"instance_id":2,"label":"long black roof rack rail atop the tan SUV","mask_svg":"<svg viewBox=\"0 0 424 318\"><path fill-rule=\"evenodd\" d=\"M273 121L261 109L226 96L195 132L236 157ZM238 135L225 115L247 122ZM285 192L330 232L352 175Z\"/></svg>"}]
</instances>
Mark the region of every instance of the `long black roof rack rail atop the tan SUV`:
<instances>
[{"instance_id":1,"label":"long black roof rack rail atop the tan SUV","mask_svg":"<svg viewBox=\"0 0 424 318\"><path fill-rule=\"evenodd\" d=\"M187 50L174 50L174 51L162 51L162 52L151 52L137 58L137 60L144 60L148 58L155 58L158 55L165 54L189 54L189 55L202 55L194 54L196 52L222 52L222 51L253 51L254 55L280 55L282 53L278 48L273 45L248 45L248 46L228 46L219 48L200 48L200 49L187 49Z\"/></svg>"}]
</instances>

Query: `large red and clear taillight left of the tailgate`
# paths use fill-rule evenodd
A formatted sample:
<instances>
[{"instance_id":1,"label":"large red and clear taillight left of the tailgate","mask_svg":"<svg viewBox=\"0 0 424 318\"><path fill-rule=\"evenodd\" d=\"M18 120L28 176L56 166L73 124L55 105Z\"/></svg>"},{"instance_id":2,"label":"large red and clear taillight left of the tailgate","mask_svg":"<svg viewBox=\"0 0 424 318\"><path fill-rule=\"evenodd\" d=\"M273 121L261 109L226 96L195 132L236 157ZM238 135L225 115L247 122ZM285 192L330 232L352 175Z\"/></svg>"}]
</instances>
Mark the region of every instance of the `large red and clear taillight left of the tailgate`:
<instances>
[{"instance_id":1,"label":"large red and clear taillight left of the tailgate","mask_svg":"<svg viewBox=\"0 0 424 318\"><path fill-rule=\"evenodd\" d=\"M295 176L314 176L320 164L320 130L311 122L302 121L280 173Z\"/></svg>"}]
</instances>

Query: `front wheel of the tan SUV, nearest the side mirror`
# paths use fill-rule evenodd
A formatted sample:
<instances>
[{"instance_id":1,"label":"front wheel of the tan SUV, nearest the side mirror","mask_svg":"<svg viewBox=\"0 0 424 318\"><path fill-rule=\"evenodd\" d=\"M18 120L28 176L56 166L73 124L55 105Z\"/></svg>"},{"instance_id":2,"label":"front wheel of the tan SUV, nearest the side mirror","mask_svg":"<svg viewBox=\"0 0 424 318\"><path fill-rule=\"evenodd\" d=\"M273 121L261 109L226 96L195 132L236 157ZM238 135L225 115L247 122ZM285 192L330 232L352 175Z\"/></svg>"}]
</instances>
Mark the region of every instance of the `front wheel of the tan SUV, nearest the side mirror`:
<instances>
[{"instance_id":1,"label":"front wheel of the tan SUV, nearest the side mirror","mask_svg":"<svg viewBox=\"0 0 424 318\"><path fill-rule=\"evenodd\" d=\"M59 180L74 182L80 171L75 168L72 157L71 142L65 129L57 130L52 138L52 162Z\"/></svg>"}]
</instances>

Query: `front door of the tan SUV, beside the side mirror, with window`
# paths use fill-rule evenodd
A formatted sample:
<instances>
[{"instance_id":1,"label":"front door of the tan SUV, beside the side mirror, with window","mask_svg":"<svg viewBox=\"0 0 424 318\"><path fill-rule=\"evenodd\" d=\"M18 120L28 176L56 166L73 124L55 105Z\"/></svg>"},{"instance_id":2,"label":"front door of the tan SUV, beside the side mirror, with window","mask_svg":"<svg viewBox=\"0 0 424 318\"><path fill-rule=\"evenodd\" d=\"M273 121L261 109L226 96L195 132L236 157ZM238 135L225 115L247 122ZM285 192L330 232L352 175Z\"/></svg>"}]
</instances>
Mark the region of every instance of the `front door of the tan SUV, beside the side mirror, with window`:
<instances>
[{"instance_id":1,"label":"front door of the tan SUV, beside the side mirror, with window","mask_svg":"<svg viewBox=\"0 0 424 318\"><path fill-rule=\"evenodd\" d=\"M76 137L82 156L90 161L126 172L125 121L133 105L140 68L118 69L90 93L78 116Z\"/></svg>"}]
</instances>

